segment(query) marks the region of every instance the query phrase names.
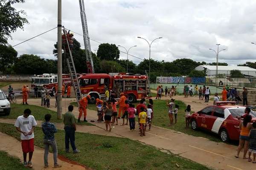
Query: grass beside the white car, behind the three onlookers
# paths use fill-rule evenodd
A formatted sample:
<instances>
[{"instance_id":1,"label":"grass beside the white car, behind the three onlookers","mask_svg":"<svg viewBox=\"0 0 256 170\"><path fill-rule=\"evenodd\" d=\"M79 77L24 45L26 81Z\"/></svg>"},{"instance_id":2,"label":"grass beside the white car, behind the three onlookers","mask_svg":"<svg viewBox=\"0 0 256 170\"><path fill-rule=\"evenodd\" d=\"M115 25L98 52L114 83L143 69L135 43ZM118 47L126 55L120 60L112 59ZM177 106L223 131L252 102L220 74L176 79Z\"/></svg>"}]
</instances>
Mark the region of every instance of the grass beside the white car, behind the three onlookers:
<instances>
[{"instance_id":1,"label":"grass beside the white car, behind the three onlookers","mask_svg":"<svg viewBox=\"0 0 256 170\"><path fill-rule=\"evenodd\" d=\"M26 108L29 108L32 111L32 115L35 117L35 120L44 121L45 114L51 114L51 122L62 122L62 120L57 119L57 112L51 111L47 108L42 108L41 106L35 105L22 105L22 104L11 104L11 113L9 116L0 116L3 119L17 119L18 116L23 115L23 112ZM77 123L79 125L93 125L88 122ZM94 126L94 125L93 125Z\"/></svg>"}]
</instances>

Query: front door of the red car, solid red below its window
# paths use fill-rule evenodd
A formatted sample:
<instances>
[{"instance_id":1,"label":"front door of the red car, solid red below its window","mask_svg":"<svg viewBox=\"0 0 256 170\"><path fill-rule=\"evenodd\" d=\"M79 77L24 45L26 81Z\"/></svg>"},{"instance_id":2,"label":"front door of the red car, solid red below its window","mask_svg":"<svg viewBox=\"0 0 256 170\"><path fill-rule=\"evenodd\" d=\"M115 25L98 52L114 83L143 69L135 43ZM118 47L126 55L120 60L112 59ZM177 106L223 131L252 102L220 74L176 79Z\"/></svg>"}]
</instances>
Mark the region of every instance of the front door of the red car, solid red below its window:
<instances>
[{"instance_id":1,"label":"front door of the red car, solid red below its window","mask_svg":"<svg viewBox=\"0 0 256 170\"><path fill-rule=\"evenodd\" d=\"M213 106L208 106L199 112L198 127L208 129L209 116L212 116Z\"/></svg>"}]
</instances>

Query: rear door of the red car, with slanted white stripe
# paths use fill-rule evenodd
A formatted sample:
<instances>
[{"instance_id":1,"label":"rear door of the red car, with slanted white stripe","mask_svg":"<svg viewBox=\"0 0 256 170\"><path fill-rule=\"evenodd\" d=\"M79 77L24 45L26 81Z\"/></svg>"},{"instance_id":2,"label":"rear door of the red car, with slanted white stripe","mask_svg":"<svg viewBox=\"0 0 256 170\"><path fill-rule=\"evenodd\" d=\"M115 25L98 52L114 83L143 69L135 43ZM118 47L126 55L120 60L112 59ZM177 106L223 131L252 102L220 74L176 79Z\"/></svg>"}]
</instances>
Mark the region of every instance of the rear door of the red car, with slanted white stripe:
<instances>
[{"instance_id":1,"label":"rear door of the red car, with slanted white stripe","mask_svg":"<svg viewBox=\"0 0 256 170\"><path fill-rule=\"evenodd\" d=\"M213 112L213 116L215 117L215 121L212 125L211 131L214 133L218 133L222 123L227 119L224 116L224 109L216 107Z\"/></svg>"}]
</instances>

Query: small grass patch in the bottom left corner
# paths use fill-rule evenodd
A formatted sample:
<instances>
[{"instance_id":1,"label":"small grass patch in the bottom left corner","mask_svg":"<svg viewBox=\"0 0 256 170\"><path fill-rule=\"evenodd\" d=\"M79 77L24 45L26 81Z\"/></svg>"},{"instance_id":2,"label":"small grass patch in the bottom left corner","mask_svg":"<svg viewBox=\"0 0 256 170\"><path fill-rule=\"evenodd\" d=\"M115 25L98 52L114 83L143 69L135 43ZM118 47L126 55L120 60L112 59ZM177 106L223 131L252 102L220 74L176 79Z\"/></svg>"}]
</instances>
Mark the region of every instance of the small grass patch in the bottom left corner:
<instances>
[{"instance_id":1,"label":"small grass patch in the bottom left corner","mask_svg":"<svg viewBox=\"0 0 256 170\"><path fill-rule=\"evenodd\" d=\"M0 170L28 170L21 164L20 159L8 155L4 151L0 151Z\"/></svg>"}]
</instances>

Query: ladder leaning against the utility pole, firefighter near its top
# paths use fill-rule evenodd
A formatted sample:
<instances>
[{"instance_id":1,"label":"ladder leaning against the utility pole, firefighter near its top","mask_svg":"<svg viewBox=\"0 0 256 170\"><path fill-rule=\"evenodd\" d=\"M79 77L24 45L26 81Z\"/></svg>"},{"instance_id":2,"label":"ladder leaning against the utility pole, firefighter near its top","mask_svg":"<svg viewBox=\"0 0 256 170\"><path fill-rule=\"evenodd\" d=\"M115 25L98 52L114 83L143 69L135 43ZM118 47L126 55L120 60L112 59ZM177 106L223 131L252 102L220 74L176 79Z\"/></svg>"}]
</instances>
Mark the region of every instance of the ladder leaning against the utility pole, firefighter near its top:
<instances>
[{"instance_id":1,"label":"ladder leaning against the utility pole, firefighter near its top","mask_svg":"<svg viewBox=\"0 0 256 170\"><path fill-rule=\"evenodd\" d=\"M74 64L74 61L73 61L73 56L72 56L72 53L71 53L71 50L70 50L70 45L69 45L69 42L68 42L68 39L67 39L67 32L66 32L66 29L65 29L64 26L63 26L63 28L64 28L63 31L64 31L64 35L65 35L65 38L66 38L67 47L68 47L68 51L69 51L67 53L66 48L64 47L64 51L67 54L67 56L66 56L67 67L68 67L68 70L70 72L71 82L72 82L72 85L73 85L74 92L76 94L76 102L79 106L79 99L81 97L80 85L79 85L78 77L77 77L77 74L76 74L76 67L75 67L75 64Z\"/></svg>"}]
</instances>

